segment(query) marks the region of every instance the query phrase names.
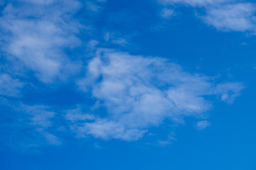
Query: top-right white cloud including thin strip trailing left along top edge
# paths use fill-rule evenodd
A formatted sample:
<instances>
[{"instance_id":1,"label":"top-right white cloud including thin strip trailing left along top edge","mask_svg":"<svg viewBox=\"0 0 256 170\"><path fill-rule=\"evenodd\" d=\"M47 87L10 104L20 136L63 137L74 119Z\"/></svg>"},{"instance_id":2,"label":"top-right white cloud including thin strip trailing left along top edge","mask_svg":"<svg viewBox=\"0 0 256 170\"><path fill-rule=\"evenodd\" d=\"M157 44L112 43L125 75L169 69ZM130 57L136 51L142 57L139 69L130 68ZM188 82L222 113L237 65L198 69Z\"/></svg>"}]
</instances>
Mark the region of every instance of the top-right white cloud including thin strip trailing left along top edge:
<instances>
[{"instance_id":1,"label":"top-right white cloud including thin strip trailing left along top edge","mask_svg":"<svg viewBox=\"0 0 256 170\"><path fill-rule=\"evenodd\" d=\"M159 0L159 3L164 6L183 4L193 8L203 8L206 14L197 16L218 30L250 31L255 33L256 8L253 3L237 3L236 1L223 0ZM163 12L161 11L161 13Z\"/></svg>"}]
</instances>

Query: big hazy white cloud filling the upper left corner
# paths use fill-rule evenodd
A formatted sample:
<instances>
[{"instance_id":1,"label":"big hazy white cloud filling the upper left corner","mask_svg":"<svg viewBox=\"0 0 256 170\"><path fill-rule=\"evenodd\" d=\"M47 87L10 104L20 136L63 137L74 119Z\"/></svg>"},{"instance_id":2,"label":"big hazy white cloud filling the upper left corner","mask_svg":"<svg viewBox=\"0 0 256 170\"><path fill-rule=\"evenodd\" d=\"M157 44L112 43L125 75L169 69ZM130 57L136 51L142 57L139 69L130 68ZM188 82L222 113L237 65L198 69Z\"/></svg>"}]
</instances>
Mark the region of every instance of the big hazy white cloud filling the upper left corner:
<instances>
[{"instance_id":1,"label":"big hazy white cloud filling the upper left corner","mask_svg":"<svg viewBox=\"0 0 256 170\"><path fill-rule=\"evenodd\" d=\"M0 25L2 49L9 60L18 60L43 82L70 69L64 49L79 45L80 24L70 17L78 1L18 1L6 4ZM22 70L23 71L23 70ZM71 72L71 71L70 71Z\"/></svg>"}]
</instances>

